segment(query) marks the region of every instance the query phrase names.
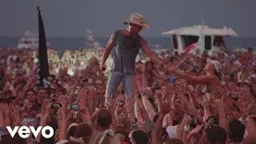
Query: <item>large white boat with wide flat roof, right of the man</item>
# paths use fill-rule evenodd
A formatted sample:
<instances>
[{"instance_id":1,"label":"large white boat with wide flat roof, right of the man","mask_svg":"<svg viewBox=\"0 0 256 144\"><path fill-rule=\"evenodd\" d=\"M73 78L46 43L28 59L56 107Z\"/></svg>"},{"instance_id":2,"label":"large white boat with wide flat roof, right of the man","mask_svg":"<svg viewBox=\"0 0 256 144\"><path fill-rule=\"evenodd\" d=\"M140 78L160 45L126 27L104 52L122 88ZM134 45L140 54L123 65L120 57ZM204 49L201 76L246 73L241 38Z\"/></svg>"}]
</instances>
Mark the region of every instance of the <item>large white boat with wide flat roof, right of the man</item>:
<instances>
[{"instance_id":1,"label":"large white boat with wide flat roof, right of the man","mask_svg":"<svg viewBox=\"0 0 256 144\"><path fill-rule=\"evenodd\" d=\"M188 26L162 33L172 36L172 54L204 53L213 55L214 51L222 50L225 46L224 37L237 36L232 29L224 26L223 29L213 29L210 26Z\"/></svg>"}]
</instances>

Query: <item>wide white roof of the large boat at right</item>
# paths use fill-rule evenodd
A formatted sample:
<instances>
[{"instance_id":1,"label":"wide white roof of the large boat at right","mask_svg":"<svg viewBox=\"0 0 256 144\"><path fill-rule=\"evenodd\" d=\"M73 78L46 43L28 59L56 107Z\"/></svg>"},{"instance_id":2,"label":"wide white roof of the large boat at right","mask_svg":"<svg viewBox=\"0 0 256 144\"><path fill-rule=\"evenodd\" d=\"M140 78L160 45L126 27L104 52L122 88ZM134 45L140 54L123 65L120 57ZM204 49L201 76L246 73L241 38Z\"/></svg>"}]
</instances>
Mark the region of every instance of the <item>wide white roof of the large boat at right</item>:
<instances>
[{"instance_id":1,"label":"wide white roof of the large boat at right","mask_svg":"<svg viewBox=\"0 0 256 144\"><path fill-rule=\"evenodd\" d=\"M170 30L162 33L166 34L178 34L178 35L218 35L218 36L236 36L238 35L233 29L224 26L223 29L212 29L209 26L191 26L182 27L177 30Z\"/></svg>"}]
</instances>

